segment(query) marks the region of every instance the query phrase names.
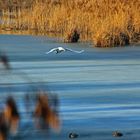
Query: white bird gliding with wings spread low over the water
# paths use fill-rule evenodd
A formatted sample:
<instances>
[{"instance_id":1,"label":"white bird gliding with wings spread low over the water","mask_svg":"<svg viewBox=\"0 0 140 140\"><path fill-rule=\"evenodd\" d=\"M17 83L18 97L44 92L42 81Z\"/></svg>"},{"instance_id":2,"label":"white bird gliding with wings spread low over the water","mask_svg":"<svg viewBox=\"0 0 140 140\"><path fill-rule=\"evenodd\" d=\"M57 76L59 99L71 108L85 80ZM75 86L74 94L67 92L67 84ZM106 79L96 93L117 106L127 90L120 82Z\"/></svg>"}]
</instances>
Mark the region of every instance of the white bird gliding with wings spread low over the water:
<instances>
[{"instance_id":1,"label":"white bird gliding with wings spread low over the water","mask_svg":"<svg viewBox=\"0 0 140 140\"><path fill-rule=\"evenodd\" d=\"M75 52L75 53L84 52L84 50L76 51L76 50L72 50L72 49L69 49L69 48L57 47L57 48L53 48L50 51L46 52L46 54L49 54L51 52L55 52L57 54L57 53L65 52L65 51L71 51L71 52Z\"/></svg>"}]
</instances>

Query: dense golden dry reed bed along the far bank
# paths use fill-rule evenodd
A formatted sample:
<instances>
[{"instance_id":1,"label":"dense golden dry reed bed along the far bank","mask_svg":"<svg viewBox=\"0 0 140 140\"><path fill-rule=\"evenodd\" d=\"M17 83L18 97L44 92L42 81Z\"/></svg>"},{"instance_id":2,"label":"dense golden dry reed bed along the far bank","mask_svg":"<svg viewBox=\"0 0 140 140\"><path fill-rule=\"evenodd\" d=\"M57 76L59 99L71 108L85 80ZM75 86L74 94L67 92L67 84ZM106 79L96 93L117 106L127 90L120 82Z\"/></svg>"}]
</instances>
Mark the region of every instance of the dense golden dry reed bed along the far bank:
<instances>
[{"instance_id":1,"label":"dense golden dry reed bed along the far bank","mask_svg":"<svg viewBox=\"0 0 140 140\"><path fill-rule=\"evenodd\" d=\"M58 32L66 37L76 28L82 39L93 40L98 47L140 42L138 0L36 0L30 9L13 15L13 29Z\"/></svg>"}]
</instances>

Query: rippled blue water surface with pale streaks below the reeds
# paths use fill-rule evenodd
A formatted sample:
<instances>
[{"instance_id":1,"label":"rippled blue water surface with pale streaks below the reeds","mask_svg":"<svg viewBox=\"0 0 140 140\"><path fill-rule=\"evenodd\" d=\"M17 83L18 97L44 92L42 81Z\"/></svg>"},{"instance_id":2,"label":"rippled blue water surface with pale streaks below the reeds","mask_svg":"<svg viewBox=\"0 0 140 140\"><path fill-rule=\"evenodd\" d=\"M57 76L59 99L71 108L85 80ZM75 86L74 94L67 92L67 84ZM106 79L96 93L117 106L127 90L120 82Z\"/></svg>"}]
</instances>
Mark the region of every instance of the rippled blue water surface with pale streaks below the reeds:
<instances>
[{"instance_id":1,"label":"rippled blue water surface with pale streaks below the reeds","mask_svg":"<svg viewBox=\"0 0 140 140\"><path fill-rule=\"evenodd\" d=\"M45 52L54 47L85 51L81 54ZM23 113L20 134L11 139L80 140L140 139L140 46L94 48L91 43L66 44L57 38L0 35L0 50L9 57L12 71L0 65L0 101L5 94L18 96ZM49 89L59 97L60 134L35 132L24 115L23 96L33 86Z\"/></svg>"}]
</instances>

